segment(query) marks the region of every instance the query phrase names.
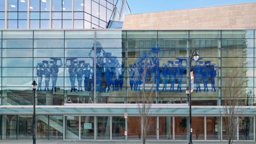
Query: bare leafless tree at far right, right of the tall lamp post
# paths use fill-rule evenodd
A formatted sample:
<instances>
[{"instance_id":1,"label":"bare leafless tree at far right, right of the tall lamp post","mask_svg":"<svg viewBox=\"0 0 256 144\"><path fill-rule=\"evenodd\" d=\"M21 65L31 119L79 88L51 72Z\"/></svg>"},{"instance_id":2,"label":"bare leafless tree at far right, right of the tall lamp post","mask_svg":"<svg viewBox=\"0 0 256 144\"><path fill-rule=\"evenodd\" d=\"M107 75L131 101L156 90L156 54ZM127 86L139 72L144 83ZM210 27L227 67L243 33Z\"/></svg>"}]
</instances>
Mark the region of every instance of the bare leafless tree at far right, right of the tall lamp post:
<instances>
[{"instance_id":1,"label":"bare leafless tree at far right, right of the tall lamp post","mask_svg":"<svg viewBox=\"0 0 256 144\"><path fill-rule=\"evenodd\" d=\"M230 77L226 79L226 83L222 91L222 126L225 129L228 144L232 144L236 134L238 122L237 117L242 116L244 111L242 106L245 104L243 97L246 91L243 87L243 78L238 77L238 71L232 71Z\"/></svg>"}]
</instances>

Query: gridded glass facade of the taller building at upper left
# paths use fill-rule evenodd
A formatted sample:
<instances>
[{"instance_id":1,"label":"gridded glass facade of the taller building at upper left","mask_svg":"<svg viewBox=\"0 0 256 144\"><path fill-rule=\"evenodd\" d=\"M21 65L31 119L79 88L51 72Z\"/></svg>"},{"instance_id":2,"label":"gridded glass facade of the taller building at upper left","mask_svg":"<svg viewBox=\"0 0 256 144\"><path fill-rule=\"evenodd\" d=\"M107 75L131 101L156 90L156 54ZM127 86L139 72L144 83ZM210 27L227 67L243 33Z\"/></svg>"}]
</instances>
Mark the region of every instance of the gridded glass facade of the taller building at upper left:
<instances>
[{"instance_id":1,"label":"gridded glass facade of the taller building at upper left","mask_svg":"<svg viewBox=\"0 0 256 144\"><path fill-rule=\"evenodd\" d=\"M130 13L123 0L1 0L0 28L106 28Z\"/></svg>"}]
</instances>

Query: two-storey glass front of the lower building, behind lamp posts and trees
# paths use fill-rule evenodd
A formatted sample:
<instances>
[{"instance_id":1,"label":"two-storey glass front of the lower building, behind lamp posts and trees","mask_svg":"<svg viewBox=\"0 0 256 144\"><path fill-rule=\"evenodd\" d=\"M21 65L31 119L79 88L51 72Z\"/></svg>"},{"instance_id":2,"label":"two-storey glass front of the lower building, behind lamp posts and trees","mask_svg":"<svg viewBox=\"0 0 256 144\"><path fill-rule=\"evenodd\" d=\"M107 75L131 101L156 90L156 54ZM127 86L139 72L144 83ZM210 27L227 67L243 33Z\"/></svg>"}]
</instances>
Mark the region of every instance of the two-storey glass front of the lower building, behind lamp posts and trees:
<instances>
[{"instance_id":1,"label":"two-storey glass front of the lower building, behind lamp posts and trees","mask_svg":"<svg viewBox=\"0 0 256 144\"><path fill-rule=\"evenodd\" d=\"M186 105L188 56L197 48L192 106L202 111L192 117L192 137L225 140L225 118L213 109L222 106L232 71L244 80L240 102L255 105L255 34L256 30L2 30L0 104L11 110L32 106L31 83L36 80L37 106L58 111L38 113L37 139L140 140L138 112L131 111L125 119L121 109L136 106L142 71L146 68L146 78L154 81L153 88L145 88L155 91L154 106ZM60 110L70 105L111 105L120 111ZM188 140L188 109L179 109L153 112L148 139ZM31 139L32 115L14 113L0 115L1 138ZM255 115L235 117L237 140L255 140Z\"/></svg>"}]
</instances>

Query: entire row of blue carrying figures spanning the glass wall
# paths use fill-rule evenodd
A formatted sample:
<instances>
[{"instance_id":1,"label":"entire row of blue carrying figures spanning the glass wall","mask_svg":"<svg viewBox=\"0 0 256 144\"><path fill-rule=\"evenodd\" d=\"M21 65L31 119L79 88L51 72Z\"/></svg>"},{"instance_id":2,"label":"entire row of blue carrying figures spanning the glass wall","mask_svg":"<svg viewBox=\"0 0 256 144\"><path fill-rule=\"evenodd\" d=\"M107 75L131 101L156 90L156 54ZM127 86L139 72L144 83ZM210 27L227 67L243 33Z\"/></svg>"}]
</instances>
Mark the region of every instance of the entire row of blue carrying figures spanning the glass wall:
<instances>
[{"instance_id":1,"label":"entire row of blue carrying figures spanning the glass wall","mask_svg":"<svg viewBox=\"0 0 256 144\"><path fill-rule=\"evenodd\" d=\"M84 77L84 91L90 91L92 85L92 91L94 91L94 46L90 50L88 56L92 59L92 66L90 63L86 63L84 60L78 60L78 58L66 58L65 66L68 68L71 90L76 91L75 81L78 82L78 92L82 90L82 81ZM140 54L140 57L136 58L134 64L129 64L128 72L130 75L130 89L140 91L140 85L142 84L143 73L145 76L145 82L148 78L152 78L156 91L159 91L159 86L163 83L162 91L167 91L167 84L170 84L170 90L174 92L174 84L177 85L177 92L182 92L182 80L188 67L188 61L186 58L175 58L174 61L169 60L167 63L160 66L160 47L157 42L150 52L144 52ZM102 56L101 56L102 54ZM106 92L110 92L110 86L112 91L122 90L124 83L124 64L120 64L116 56L112 56L112 53L105 52L100 42L96 42L96 91L103 92L102 80L105 78L107 88ZM149 60L149 62L148 62ZM193 60L193 59L192 59ZM59 62L58 62L59 61ZM185 64L183 62L185 61ZM56 92L56 82L58 79L59 68L62 66L61 58L50 58L50 60L43 60L42 63L38 63L36 67L36 75L38 76L38 89L41 91L42 77L45 77L45 89L49 91L49 82L52 78L52 91ZM146 68L146 70L145 70ZM195 65L191 66L194 72L194 81L196 83L196 92L201 92L200 84L204 84L204 92L208 92L208 78L212 85L212 92L216 92L215 88L215 76L216 65L212 64L209 60L203 60L199 58ZM90 84L90 77L92 78L92 84Z\"/></svg>"}]
</instances>

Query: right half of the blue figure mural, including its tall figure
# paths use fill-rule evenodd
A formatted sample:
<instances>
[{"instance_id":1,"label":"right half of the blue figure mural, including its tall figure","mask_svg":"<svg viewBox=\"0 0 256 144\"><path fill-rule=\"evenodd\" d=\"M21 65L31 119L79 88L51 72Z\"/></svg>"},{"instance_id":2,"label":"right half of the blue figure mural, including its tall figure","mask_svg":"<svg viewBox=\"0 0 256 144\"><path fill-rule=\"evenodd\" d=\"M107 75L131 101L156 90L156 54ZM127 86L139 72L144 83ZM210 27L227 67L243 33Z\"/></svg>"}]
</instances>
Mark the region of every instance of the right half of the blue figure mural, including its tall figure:
<instances>
[{"instance_id":1,"label":"right half of the blue figure mural, including its tall figure","mask_svg":"<svg viewBox=\"0 0 256 144\"><path fill-rule=\"evenodd\" d=\"M144 72L145 82L147 82L148 77L151 77L152 82L155 85L155 91L159 91L159 86L162 78L163 88L162 91L167 91L167 84L170 84L170 90L174 92L174 84L177 85L177 92L182 92L182 80L186 68L188 67L188 61L186 58L175 58L175 61L169 60L167 63L160 66L160 59L158 53L160 53L160 47L157 42L155 42L155 47L151 49L152 56L150 52L144 52L137 58L134 64L129 64L128 72L130 75L130 89L135 91L140 91L140 85L142 84L142 75ZM148 62L149 59L149 62ZM183 64L185 61L185 64ZM144 70L147 68L148 70ZM201 92L200 84L204 84L204 92L208 92L208 78L210 77L210 82L212 85L212 92L216 92L215 88L215 76L216 76L216 66L212 64L211 61L203 61L202 58L196 61L196 64L192 66L194 71L194 79L196 83L196 92Z\"/></svg>"}]
</instances>

